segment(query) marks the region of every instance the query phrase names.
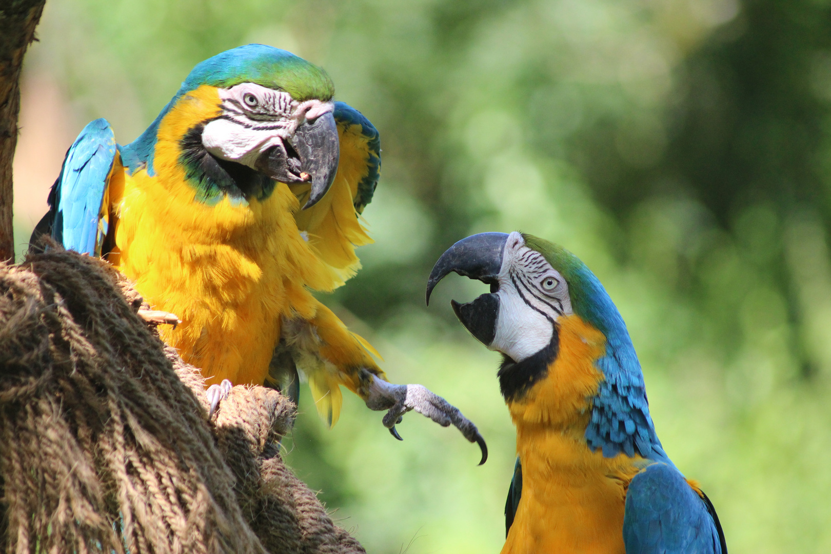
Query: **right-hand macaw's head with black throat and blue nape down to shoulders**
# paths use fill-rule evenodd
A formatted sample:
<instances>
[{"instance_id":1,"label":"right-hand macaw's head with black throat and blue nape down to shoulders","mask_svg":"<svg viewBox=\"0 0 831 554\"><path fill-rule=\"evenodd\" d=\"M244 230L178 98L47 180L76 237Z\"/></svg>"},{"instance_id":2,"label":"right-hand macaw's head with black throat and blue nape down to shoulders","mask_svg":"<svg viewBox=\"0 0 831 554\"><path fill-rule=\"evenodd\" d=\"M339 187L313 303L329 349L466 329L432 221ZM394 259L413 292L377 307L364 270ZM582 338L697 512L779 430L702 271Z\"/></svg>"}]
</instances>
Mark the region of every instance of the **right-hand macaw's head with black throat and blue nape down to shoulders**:
<instances>
[{"instance_id":1,"label":"right-hand macaw's head with black throat and blue nape down to shoulders","mask_svg":"<svg viewBox=\"0 0 831 554\"><path fill-rule=\"evenodd\" d=\"M573 253L542 238L522 233L479 233L455 243L435 263L427 283L427 301L435 285L450 272L490 285L473 302L452 302L470 333L504 360L499 387L509 403L543 379L563 349L560 333L585 327L594 332L581 341L596 341L602 351L593 367L602 373L591 399L588 446L611 458L618 453L671 465L658 440L626 324L606 289ZM579 325L575 323L579 321Z\"/></svg>"}]
</instances>

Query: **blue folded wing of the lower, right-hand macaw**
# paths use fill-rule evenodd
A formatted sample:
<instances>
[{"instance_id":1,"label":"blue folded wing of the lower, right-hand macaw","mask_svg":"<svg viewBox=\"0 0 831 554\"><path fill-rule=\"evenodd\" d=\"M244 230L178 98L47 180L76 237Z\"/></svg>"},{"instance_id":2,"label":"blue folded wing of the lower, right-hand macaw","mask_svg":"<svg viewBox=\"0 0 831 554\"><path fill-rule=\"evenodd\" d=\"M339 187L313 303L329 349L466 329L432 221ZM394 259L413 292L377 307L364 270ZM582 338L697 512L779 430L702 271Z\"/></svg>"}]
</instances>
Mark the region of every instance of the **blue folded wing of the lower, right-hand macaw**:
<instances>
[{"instance_id":1,"label":"blue folded wing of the lower, right-hand macaw","mask_svg":"<svg viewBox=\"0 0 831 554\"><path fill-rule=\"evenodd\" d=\"M626 551L727 554L711 506L676 468L653 463L629 483L623 516Z\"/></svg>"}]
</instances>

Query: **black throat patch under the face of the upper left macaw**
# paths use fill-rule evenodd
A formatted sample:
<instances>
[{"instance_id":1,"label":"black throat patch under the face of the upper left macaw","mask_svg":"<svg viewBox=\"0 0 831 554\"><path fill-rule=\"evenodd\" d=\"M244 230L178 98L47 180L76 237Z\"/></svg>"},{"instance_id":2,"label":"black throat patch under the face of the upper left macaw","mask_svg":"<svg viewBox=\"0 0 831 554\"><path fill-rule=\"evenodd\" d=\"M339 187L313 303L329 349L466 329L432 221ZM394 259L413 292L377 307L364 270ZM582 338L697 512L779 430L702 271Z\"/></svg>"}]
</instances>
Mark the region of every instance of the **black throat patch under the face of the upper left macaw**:
<instances>
[{"instance_id":1,"label":"black throat patch under the face of the upper left macaw","mask_svg":"<svg viewBox=\"0 0 831 554\"><path fill-rule=\"evenodd\" d=\"M277 184L274 179L247 165L219 159L205 150L202 145L205 123L191 127L179 142L179 163L184 166L185 179L196 189L196 199L214 204L225 195L246 201L271 196Z\"/></svg>"}]
</instances>

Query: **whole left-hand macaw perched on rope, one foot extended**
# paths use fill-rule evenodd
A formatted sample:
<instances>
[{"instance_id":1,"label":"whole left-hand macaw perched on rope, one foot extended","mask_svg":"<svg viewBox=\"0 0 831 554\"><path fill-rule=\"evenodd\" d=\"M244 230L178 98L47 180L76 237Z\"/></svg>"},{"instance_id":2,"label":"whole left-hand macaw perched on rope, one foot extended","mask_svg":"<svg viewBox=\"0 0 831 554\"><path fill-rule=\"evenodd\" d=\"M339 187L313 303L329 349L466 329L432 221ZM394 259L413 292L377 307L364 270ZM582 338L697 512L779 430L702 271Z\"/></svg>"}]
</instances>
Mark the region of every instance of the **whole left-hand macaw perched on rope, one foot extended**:
<instances>
[{"instance_id":1,"label":"whole left-hand macaw perched on rope, one foot extended","mask_svg":"<svg viewBox=\"0 0 831 554\"><path fill-rule=\"evenodd\" d=\"M378 132L333 101L320 67L249 44L199 63L138 139L116 144L106 120L81 131L52 187L32 243L106 257L156 310L160 328L202 370L212 411L233 385L273 385L297 397L297 368L330 426L340 385L388 409L396 434L416 409L475 425L420 385L392 385L376 351L312 296L341 286L371 243L360 214L381 166ZM302 208L300 206L302 205Z\"/></svg>"}]
</instances>

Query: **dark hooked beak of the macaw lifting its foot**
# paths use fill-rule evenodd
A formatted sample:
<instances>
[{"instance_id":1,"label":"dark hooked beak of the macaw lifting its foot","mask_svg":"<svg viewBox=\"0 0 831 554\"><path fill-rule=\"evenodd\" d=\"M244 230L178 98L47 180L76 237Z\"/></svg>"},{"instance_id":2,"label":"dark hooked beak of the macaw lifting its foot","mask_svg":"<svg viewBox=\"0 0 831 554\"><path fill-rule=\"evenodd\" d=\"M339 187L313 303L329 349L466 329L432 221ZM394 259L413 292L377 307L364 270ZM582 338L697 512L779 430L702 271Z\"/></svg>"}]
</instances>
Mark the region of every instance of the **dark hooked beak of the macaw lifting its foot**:
<instances>
[{"instance_id":1,"label":"dark hooked beak of the macaw lifting its foot","mask_svg":"<svg viewBox=\"0 0 831 554\"><path fill-rule=\"evenodd\" d=\"M315 205L332 186L341 147L332 112L306 121L286 140L260 154L256 167L281 183L312 183L303 209Z\"/></svg>"}]
</instances>

